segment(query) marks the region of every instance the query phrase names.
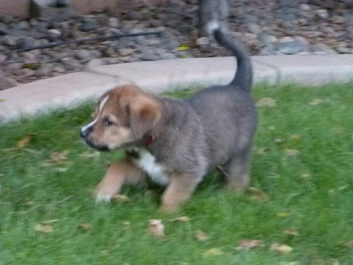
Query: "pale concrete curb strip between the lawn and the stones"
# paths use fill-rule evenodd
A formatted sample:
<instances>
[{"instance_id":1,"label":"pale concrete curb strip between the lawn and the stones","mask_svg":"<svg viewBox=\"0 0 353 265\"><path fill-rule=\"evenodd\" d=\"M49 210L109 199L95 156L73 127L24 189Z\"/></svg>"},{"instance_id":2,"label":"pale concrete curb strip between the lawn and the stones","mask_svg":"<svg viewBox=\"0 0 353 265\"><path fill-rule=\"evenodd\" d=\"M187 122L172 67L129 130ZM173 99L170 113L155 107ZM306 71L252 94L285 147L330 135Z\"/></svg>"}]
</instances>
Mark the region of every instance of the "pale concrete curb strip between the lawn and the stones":
<instances>
[{"instance_id":1,"label":"pale concrete curb strip between the lawn and the stones","mask_svg":"<svg viewBox=\"0 0 353 265\"><path fill-rule=\"evenodd\" d=\"M321 85L353 80L353 54L252 56L254 82ZM190 58L105 65L0 91L0 123L21 116L74 107L115 86L134 83L160 93L192 83L226 84L233 57Z\"/></svg>"}]
</instances>

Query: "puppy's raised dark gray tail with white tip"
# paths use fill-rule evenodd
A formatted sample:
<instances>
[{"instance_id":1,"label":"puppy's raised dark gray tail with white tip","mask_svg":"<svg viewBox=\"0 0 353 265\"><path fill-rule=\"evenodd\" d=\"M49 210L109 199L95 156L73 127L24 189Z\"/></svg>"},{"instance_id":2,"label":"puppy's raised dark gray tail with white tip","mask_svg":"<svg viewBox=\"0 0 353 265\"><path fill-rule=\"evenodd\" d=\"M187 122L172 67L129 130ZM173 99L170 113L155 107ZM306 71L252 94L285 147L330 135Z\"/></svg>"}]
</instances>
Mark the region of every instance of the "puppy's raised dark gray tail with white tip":
<instances>
[{"instance_id":1,"label":"puppy's raised dark gray tail with white tip","mask_svg":"<svg viewBox=\"0 0 353 265\"><path fill-rule=\"evenodd\" d=\"M229 49L237 60L237 70L233 80L230 82L237 88L251 91L252 88L252 63L249 53L245 47L237 40L231 40L227 37L218 22L211 21L207 24L209 34L212 34L215 39L223 47Z\"/></svg>"}]
</instances>

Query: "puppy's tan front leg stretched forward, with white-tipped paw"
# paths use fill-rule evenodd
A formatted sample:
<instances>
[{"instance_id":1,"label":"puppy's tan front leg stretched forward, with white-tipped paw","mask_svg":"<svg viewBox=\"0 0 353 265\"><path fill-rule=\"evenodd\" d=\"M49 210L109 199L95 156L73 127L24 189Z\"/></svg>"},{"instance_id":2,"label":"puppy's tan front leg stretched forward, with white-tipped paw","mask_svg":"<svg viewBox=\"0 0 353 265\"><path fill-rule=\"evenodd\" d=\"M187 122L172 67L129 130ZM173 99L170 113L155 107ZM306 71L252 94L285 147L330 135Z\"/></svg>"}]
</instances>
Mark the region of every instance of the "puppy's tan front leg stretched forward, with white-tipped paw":
<instances>
[{"instance_id":1,"label":"puppy's tan front leg stretched forward, with white-tipped paw","mask_svg":"<svg viewBox=\"0 0 353 265\"><path fill-rule=\"evenodd\" d=\"M144 173L129 160L113 163L96 188L96 201L109 202L124 184L136 184L144 179Z\"/></svg>"}]
</instances>

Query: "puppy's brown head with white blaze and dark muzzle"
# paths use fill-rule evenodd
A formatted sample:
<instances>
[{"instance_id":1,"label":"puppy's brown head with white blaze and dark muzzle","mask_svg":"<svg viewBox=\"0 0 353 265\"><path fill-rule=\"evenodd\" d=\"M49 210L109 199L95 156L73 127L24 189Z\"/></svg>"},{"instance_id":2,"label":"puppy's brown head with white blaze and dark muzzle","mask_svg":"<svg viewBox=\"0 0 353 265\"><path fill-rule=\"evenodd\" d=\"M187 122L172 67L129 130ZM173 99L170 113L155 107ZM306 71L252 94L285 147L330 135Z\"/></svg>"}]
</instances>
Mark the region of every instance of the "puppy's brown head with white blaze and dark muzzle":
<instances>
[{"instance_id":1,"label":"puppy's brown head with white blaze and dark muzzle","mask_svg":"<svg viewBox=\"0 0 353 265\"><path fill-rule=\"evenodd\" d=\"M91 147L113 150L141 140L161 118L161 106L135 86L120 86L101 96L94 120L80 135Z\"/></svg>"}]
</instances>

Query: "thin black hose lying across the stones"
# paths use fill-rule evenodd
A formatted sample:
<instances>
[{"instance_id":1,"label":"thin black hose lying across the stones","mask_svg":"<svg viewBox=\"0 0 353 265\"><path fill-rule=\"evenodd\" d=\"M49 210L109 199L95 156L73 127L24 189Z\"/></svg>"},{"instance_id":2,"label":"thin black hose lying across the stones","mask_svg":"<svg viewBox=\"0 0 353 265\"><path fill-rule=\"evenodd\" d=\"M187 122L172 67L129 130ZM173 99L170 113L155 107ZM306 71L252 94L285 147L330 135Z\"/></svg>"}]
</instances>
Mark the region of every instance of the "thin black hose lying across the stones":
<instances>
[{"instance_id":1,"label":"thin black hose lying across the stones","mask_svg":"<svg viewBox=\"0 0 353 265\"><path fill-rule=\"evenodd\" d=\"M61 46L61 45L68 45L68 44L72 44L72 43L81 43L81 42L87 42L87 41L110 40L110 39L118 39L118 38L122 38L122 37L131 37L131 36L140 36L140 35L160 35L162 33L163 33L162 31L141 32L141 33L131 33L131 34L122 34L122 35L112 35L112 36L107 36L107 37L74 40L74 41L68 41L68 42L59 42L59 43L52 43L52 44L48 44L48 45L11 50L11 51L4 52L4 54L16 53L16 52L27 52L27 51L37 50L37 49L46 49L46 48L51 48L51 47L56 47L56 46Z\"/></svg>"}]
</instances>

